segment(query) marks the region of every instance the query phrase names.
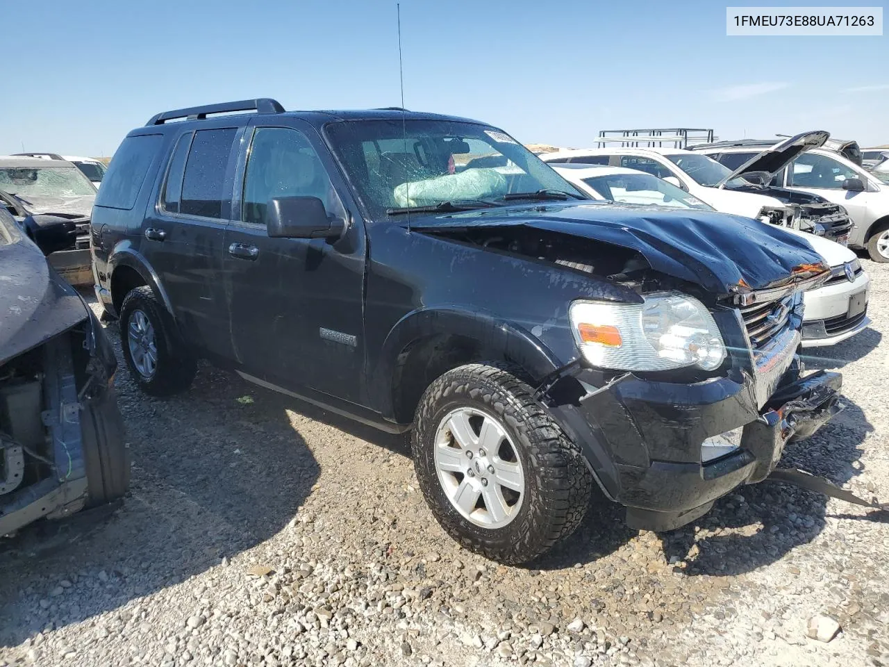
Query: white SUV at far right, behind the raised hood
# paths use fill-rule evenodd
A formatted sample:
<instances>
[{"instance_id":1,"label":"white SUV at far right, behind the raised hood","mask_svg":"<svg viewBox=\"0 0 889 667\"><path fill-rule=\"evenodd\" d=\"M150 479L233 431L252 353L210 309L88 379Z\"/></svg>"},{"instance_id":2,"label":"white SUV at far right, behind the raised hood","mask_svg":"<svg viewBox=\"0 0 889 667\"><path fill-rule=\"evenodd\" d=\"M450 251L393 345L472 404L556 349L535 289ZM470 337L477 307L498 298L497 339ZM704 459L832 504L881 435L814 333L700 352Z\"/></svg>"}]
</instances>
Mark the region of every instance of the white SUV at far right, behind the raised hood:
<instances>
[{"instance_id":1,"label":"white SUV at far right, behind the raised hood","mask_svg":"<svg viewBox=\"0 0 889 667\"><path fill-rule=\"evenodd\" d=\"M757 145L758 144L758 145ZM722 141L695 147L727 168L757 159L763 142ZM806 150L776 172L773 184L819 195L845 207L855 223L849 245L866 248L873 261L889 261L889 183L846 157L827 149Z\"/></svg>"}]
</instances>

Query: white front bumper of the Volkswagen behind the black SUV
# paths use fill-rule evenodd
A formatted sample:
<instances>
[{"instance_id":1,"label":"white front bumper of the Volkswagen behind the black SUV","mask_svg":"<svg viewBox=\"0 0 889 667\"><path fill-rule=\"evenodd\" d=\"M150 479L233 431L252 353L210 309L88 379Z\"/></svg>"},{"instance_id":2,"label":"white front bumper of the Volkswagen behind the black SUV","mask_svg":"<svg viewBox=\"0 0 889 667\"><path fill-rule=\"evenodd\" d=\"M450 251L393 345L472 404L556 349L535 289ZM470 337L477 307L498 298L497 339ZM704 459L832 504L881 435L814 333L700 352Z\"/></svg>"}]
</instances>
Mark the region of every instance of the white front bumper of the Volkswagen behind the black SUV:
<instances>
[{"instance_id":1,"label":"white front bumper of the Volkswagen behind the black SUV","mask_svg":"<svg viewBox=\"0 0 889 667\"><path fill-rule=\"evenodd\" d=\"M803 347L834 345L867 328L870 278L861 271L853 282L828 283L805 293Z\"/></svg>"}]
</instances>

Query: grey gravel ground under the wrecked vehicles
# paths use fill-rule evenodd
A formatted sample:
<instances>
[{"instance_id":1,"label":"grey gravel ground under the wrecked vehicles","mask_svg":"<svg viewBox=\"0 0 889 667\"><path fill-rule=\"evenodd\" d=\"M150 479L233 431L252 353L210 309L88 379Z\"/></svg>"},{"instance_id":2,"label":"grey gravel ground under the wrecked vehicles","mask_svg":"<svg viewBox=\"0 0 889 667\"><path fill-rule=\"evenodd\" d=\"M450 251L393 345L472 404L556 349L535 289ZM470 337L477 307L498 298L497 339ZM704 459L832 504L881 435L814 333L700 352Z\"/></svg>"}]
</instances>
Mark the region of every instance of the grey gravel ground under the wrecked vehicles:
<instances>
[{"instance_id":1,"label":"grey gravel ground under the wrecked vehicles","mask_svg":"<svg viewBox=\"0 0 889 667\"><path fill-rule=\"evenodd\" d=\"M889 501L889 266L864 263L872 327L808 359L846 410L784 462ZM0 667L889 665L885 515L761 484L659 536L596 504L501 567L436 525L403 438L209 367L117 387L132 493L0 544Z\"/></svg>"}]
</instances>

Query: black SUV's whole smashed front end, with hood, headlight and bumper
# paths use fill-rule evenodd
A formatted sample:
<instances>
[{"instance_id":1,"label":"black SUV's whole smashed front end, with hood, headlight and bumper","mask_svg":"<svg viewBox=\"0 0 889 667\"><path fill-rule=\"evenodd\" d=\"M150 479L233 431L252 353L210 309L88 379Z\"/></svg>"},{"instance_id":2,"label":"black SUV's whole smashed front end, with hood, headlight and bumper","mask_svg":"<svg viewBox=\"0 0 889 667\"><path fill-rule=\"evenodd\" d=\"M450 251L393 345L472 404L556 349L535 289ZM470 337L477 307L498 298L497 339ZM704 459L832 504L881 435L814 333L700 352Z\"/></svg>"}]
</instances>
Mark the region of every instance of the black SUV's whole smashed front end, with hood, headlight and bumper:
<instances>
[{"instance_id":1,"label":"black SUV's whole smashed front end, with hood, headlight and bumper","mask_svg":"<svg viewBox=\"0 0 889 667\"><path fill-rule=\"evenodd\" d=\"M803 375L803 293L829 267L803 239L722 213L569 204L414 222L421 234L588 276L541 342L573 360L537 398L630 526L669 530L841 409L839 374ZM608 287L609 289L605 289ZM541 327L542 329L542 327ZM532 329L533 331L534 329ZM563 357L564 358L564 357Z\"/></svg>"}]
</instances>

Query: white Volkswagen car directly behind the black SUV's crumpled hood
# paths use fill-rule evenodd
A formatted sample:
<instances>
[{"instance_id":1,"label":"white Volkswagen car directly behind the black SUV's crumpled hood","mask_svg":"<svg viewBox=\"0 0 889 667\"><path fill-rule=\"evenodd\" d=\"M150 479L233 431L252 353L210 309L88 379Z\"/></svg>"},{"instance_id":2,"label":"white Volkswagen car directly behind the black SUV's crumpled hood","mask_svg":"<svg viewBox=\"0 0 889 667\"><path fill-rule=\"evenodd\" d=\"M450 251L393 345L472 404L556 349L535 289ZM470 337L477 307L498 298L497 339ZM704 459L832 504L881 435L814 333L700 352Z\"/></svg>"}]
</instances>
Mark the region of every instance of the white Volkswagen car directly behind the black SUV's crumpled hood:
<instances>
[{"instance_id":1,"label":"white Volkswagen car directly behind the black SUV's crumpled hood","mask_svg":"<svg viewBox=\"0 0 889 667\"><path fill-rule=\"evenodd\" d=\"M552 166L566 181L594 199L628 205L712 210L697 197L650 173L609 166ZM869 325L870 279L855 253L826 238L797 229L787 231L805 238L830 266L827 283L805 293L803 347L833 345L851 338Z\"/></svg>"}]
</instances>

